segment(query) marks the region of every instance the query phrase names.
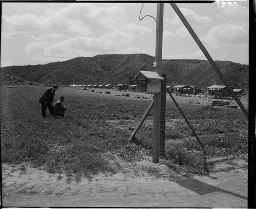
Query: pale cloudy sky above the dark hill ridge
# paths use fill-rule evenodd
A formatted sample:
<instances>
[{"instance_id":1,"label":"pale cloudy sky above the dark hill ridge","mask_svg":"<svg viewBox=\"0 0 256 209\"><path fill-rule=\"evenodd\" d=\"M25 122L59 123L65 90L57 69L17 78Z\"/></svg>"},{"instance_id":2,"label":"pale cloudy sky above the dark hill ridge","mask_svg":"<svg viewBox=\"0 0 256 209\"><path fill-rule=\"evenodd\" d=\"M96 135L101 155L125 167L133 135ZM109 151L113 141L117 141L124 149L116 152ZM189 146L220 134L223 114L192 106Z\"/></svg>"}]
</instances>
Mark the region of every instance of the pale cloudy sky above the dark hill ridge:
<instances>
[{"instance_id":1,"label":"pale cloudy sky above the dark hill ridge","mask_svg":"<svg viewBox=\"0 0 256 209\"><path fill-rule=\"evenodd\" d=\"M248 0L176 4L214 60L248 64ZM157 4L2 3L1 67L102 54L155 56ZM145 15L152 17L144 17ZM204 59L165 3L162 59Z\"/></svg>"}]
</instances>

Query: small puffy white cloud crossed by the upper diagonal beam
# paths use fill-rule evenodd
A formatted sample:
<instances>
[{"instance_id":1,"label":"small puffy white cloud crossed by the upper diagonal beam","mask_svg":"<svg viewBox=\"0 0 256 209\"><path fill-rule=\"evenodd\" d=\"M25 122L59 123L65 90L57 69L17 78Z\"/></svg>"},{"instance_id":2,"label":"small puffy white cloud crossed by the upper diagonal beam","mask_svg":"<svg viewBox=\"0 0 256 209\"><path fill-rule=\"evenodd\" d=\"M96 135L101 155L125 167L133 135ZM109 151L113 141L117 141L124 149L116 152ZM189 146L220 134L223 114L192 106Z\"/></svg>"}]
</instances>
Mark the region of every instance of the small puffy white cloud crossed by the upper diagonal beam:
<instances>
[{"instance_id":1,"label":"small puffy white cloud crossed by the upper diagonal beam","mask_svg":"<svg viewBox=\"0 0 256 209\"><path fill-rule=\"evenodd\" d=\"M186 9L186 8L181 8L180 11L184 15L184 17L189 21L190 24L193 25L209 25L212 22L212 19L208 16L200 16L196 12ZM167 20L167 19L166 19ZM168 21L169 24L171 25L181 25L182 22L180 18L178 17L177 14L175 14L174 18L172 20Z\"/></svg>"}]
</instances>

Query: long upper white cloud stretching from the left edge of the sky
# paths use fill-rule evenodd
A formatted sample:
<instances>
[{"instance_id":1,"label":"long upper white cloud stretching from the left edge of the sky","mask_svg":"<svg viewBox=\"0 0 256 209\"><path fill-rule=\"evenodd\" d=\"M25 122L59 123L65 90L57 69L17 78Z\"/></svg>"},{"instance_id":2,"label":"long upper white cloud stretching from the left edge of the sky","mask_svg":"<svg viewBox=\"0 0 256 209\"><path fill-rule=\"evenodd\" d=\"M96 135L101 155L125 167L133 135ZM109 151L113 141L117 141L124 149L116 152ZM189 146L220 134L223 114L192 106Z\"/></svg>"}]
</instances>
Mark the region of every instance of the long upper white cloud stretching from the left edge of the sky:
<instances>
[{"instance_id":1,"label":"long upper white cloud stretching from the left edge of the sky","mask_svg":"<svg viewBox=\"0 0 256 209\"><path fill-rule=\"evenodd\" d=\"M48 34L91 35L120 28L125 24L127 14L120 6L107 8L93 4L71 4L60 10L48 9L44 15L32 13L2 16L2 33L6 36ZM143 30L145 28L137 28ZM140 31L141 32L141 31Z\"/></svg>"}]
</instances>

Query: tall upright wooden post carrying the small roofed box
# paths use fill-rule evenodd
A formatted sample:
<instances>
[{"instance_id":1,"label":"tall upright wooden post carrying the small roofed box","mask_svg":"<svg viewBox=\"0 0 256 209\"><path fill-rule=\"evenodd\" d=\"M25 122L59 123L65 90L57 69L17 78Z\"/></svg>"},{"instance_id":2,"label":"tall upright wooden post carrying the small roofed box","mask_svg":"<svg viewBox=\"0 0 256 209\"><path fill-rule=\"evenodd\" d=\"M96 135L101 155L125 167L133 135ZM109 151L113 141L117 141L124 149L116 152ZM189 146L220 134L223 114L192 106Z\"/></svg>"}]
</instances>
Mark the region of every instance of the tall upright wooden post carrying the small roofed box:
<instances>
[{"instance_id":1,"label":"tall upright wooden post carrying the small roofed box","mask_svg":"<svg viewBox=\"0 0 256 209\"><path fill-rule=\"evenodd\" d=\"M161 76L162 72L162 45L163 45L163 3L157 3L156 26L156 67L155 72ZM161 93L154 95L154 119L153 119L153 162L159 162L160 150L160 122L161 122Z\"/></svg>"}]
</instances>

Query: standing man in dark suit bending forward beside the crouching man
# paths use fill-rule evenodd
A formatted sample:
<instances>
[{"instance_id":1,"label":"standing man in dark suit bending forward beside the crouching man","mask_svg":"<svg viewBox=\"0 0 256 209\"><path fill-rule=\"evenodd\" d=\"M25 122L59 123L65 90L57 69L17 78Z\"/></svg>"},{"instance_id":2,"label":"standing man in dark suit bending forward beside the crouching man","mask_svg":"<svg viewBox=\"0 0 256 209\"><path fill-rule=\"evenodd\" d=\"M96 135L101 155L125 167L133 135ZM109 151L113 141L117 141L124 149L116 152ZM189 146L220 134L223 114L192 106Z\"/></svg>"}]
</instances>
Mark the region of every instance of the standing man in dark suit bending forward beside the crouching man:
<instances>
[{"instance_id":1,"label":"standing man in dark suit bending forward beside the crouching man","mask_svg":"<svg viewBox=\"0 0 256 209\"><path fill-rule=\"evenodd\" d=\"M46 109L49 109L50 114L52 115L54 112L53 107L53 99L54 99L54 93L58 90L58 86L54 85L52 88L49 88L45 91L44 95L39 99L39 103L42 107L42 118L46 118Z\"/></svg>"}]
</instances>

